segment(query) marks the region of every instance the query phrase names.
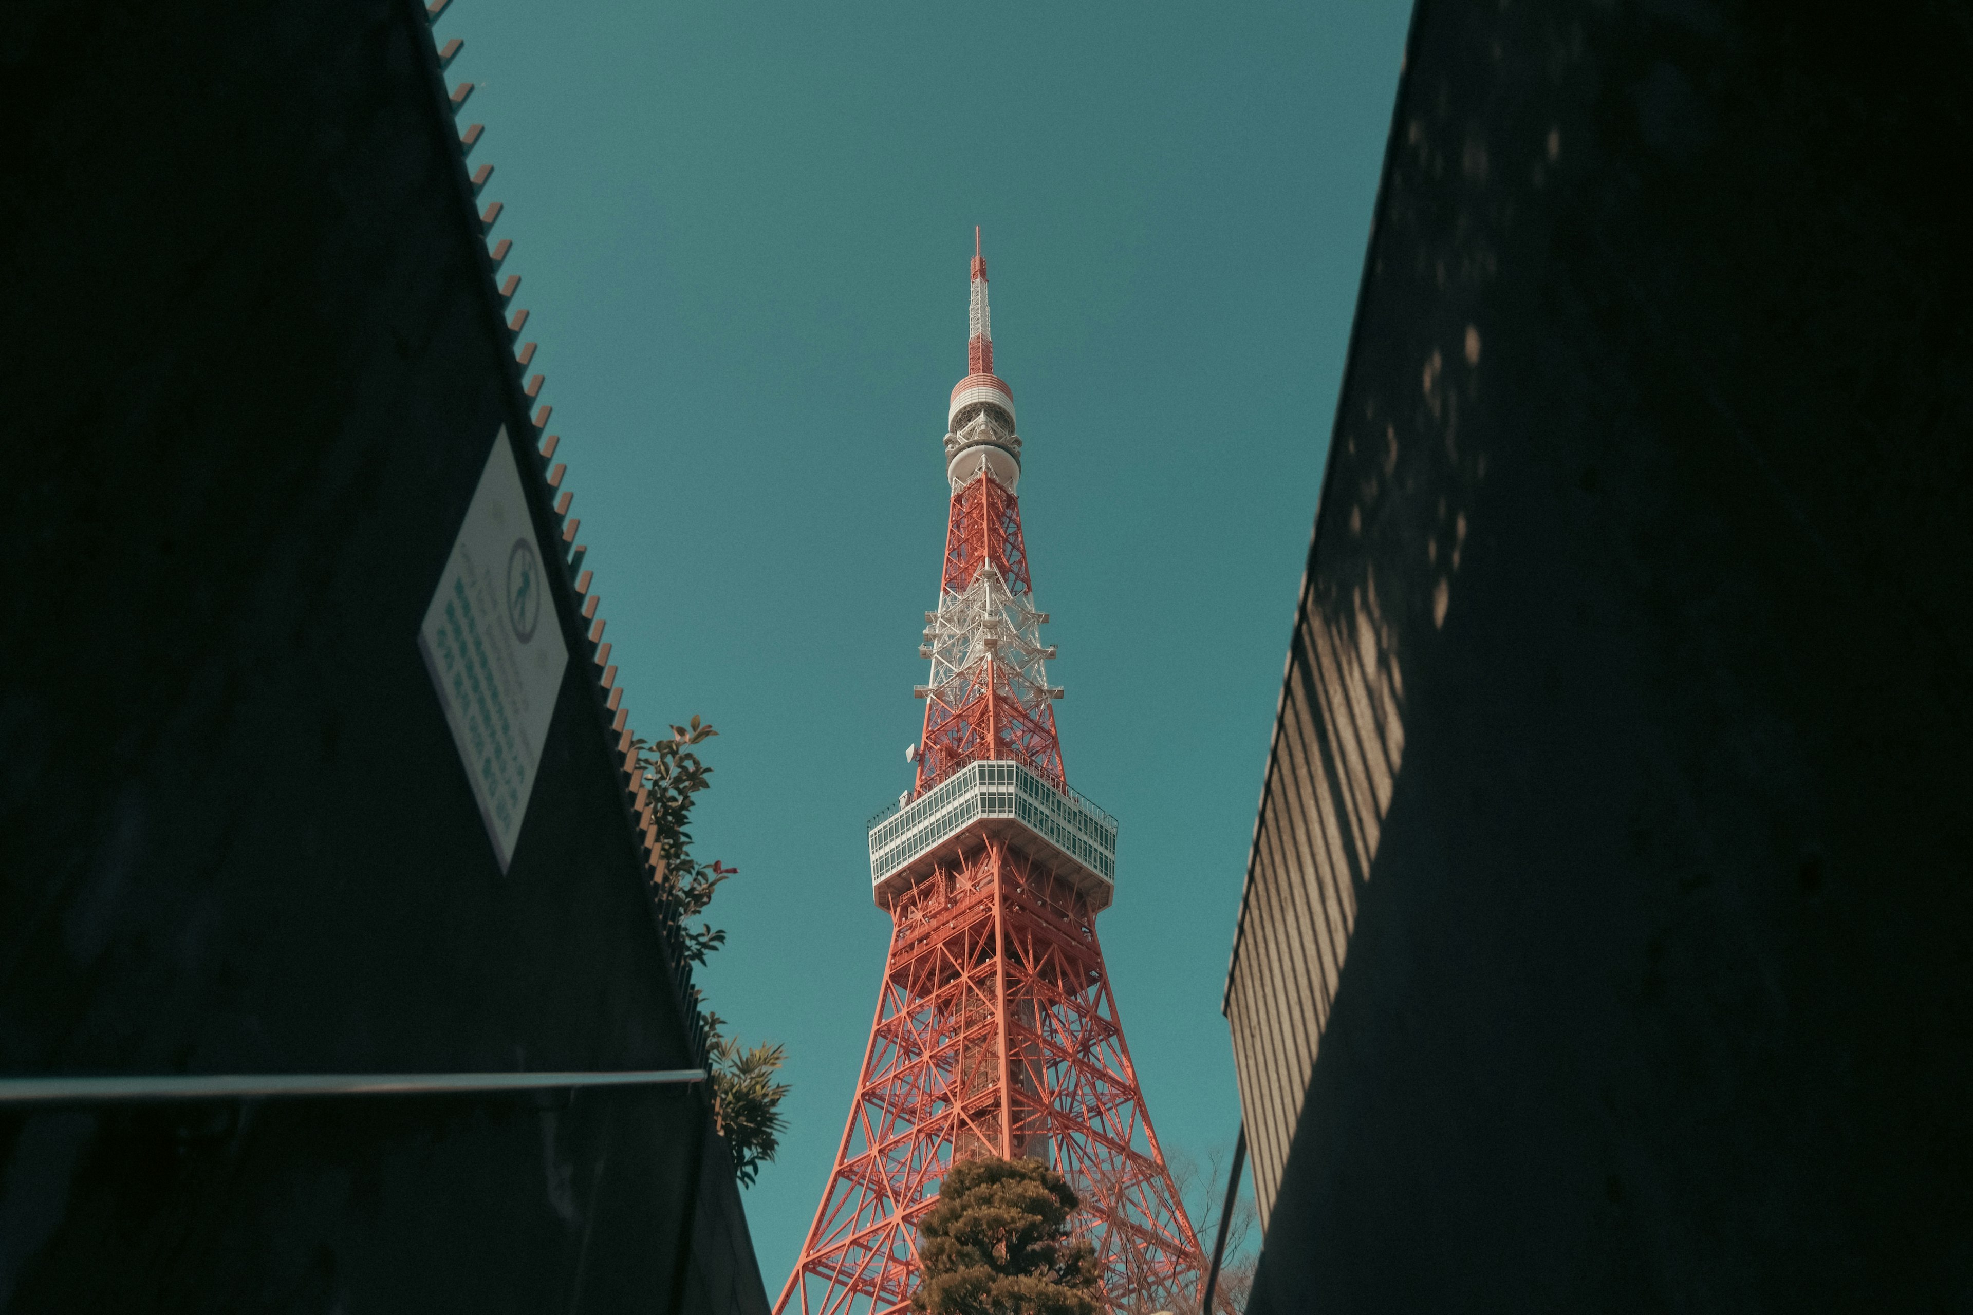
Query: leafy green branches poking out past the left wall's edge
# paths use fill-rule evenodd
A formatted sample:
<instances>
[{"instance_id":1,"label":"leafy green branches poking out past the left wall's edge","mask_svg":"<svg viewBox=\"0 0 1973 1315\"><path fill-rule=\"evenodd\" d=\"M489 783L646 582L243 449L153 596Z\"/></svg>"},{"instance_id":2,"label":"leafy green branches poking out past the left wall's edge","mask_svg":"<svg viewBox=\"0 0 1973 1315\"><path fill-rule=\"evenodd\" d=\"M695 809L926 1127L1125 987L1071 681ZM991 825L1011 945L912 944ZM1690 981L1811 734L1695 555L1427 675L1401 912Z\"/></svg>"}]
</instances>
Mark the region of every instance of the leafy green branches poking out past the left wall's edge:
<instances>
[{"instance_id":1,"label":"leafy green branches poking out past the left wall's edge","mask_svg":"<svg viewBox=\"0 0 1973 1315\"><path fill-rule=\"evenodd\" d=\"M740 871L726 867L720 860L710 864L694 860L693 834L687 830L693 816L693 796L710 787L706 777L712 775L712 769L698 761L694 749L714 735L718 731L712 729L710 722L693 718L691 726L673 726L671 739L637 737L631 741L637 749L637 773L651 795L651 814L657 824L657 875L651 883L651 897L669 919L677 921L685 958L693 964L704 964L712 950L726 944L726 931L712 927L712 923L693 927L687 919L702 915L720 883ZM760 1165L773 1159L781 1145L781 1132L787 1128L781 1100L789 1088L773 1080L785 1053L779 1045L742 1049L738 1041L724 1035L726 1019L702 1005L704 994L694 986L691 1007L698 1013L706 1035L706 1057L712 1061L712 1118L734 1155L734 1175L752 1187Z\"/></svg>"}]
</instances>

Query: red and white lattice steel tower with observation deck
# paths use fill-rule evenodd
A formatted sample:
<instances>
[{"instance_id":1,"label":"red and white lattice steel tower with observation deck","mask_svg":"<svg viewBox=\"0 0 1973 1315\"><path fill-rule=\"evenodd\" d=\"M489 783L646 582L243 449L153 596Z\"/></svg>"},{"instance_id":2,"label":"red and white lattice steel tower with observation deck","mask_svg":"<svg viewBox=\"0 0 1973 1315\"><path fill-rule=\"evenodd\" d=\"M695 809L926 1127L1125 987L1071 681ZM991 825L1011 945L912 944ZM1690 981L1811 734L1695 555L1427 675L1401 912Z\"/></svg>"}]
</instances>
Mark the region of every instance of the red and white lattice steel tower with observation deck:
<instances>
[{"instance_id":1,"label":"red and white lattice steel tower with observation deck","mask_svg":"<svg viewBox=\"0 0 1973 1315\"><path fill-rule=\"evenodd\" d=\"M969 373L945 434L951 517L915 789L870 826L892 917L876 1023L781 1315L886 1315L917 1285L917 1222L969 1155L1067 1175L1115 1311L1196 1311L1200 1242L1150 1130L1103 968L1117 822L1061 771L1020 536L1014 396L992 373L973 248Z\"/></svg>"}]
</instances>

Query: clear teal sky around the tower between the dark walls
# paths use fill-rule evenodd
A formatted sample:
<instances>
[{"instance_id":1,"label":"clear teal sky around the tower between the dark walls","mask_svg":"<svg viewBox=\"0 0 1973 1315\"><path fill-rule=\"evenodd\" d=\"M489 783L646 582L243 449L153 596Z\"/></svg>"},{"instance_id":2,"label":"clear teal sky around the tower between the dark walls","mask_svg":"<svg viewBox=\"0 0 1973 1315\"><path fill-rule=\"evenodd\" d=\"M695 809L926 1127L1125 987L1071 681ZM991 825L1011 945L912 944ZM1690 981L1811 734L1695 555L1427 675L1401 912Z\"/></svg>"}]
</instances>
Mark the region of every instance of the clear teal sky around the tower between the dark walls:
<instances>
[{"instance_id":1,"label":"clear teal sky around the tower between the dark walls","mask_svg":"<svg viewBox=\"0 0 1973 1315\"><path fill-rule=\"evenodd\" d=\"M700 982L787 1045L746 1195L769 1297L815 1212L888 923L945 398L985 231L1099 933L1168 1151L1233 1142L1219 1017L1409 4L458 0L483 201L533 317L631 726L720 729Z\"/></svg>"}]
</instances>

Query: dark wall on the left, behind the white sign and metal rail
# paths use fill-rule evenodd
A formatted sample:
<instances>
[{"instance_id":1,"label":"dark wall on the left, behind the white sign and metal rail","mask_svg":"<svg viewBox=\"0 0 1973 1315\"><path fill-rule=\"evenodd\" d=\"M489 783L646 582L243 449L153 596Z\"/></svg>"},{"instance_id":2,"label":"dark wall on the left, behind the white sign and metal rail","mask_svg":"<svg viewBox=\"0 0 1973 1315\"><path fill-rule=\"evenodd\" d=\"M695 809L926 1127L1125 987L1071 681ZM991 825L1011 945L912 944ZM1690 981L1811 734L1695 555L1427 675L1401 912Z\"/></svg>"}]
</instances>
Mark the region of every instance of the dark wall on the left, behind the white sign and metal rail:
<instances>
[{"instance_id":1,"label":"dark wall on the left, behind the white sign and metal rail","mask_svg":"<svg viewBox=\"0 0 1973 1315\"><path fill-rule=\"evenodd\" d=\"M505 875L418 657L501 426L562 536L422 10L24 0L0 83L0 1073L696 1067L568 580ZM0 1116L0 1309L681 1299L766 1305L698 1088Z\"/></svg>"}]
</instances>

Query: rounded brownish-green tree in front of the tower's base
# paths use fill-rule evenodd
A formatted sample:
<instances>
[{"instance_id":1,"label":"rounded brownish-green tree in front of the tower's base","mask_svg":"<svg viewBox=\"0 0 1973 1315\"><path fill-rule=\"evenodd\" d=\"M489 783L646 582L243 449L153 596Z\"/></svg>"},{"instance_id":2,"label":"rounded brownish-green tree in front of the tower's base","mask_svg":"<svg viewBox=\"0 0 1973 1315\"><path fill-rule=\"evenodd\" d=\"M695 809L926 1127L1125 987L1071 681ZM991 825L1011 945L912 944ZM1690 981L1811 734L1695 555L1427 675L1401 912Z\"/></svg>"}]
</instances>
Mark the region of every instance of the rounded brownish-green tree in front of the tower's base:
<instances>
[{"instance_id":1,"label":"rounded brownish-green tree in front of the tower's base","mask_svg":"<svg viewBox=\"0 0 1973 1315\"><path fill-rule=\"evenodd\" d=\"M1079 1201L1032 1159L963 1159L919 1224L921 1315L1097 1315L1101 1270L1069 1236Z\"/></svg>"}]
</instances>

